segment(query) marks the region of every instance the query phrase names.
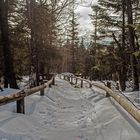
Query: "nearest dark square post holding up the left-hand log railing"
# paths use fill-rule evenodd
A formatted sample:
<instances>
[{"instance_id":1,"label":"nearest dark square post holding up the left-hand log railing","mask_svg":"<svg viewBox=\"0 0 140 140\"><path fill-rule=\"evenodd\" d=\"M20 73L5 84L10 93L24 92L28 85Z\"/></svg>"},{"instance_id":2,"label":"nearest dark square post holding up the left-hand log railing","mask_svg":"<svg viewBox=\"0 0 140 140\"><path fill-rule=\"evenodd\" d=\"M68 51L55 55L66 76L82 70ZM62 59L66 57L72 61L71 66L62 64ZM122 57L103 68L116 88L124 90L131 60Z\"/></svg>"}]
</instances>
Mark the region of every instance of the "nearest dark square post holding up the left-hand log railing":
<instances>
[{"instance_id":1,"label":"nearest dark square post holding up the left-hand log railing","mask_svg":"<svg viewBox=\"0 0 140 140\"><path fill-rule=\"evenodd\" d=\"M25 102L24 98L17 101L17 113L25 114Z\"/></svg>"}]
</instances>

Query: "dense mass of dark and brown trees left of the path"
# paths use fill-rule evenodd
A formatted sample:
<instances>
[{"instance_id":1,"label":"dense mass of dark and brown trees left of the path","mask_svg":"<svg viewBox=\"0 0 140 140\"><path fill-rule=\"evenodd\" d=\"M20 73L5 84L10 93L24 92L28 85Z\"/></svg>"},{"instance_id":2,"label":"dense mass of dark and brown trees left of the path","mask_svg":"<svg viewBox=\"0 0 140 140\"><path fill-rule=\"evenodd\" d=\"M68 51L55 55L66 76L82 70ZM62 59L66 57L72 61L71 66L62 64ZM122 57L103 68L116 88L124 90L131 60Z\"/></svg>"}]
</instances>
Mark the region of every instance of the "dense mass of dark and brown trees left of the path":
<instances>
[{"instance_id":1,"label":"dense mass of dark and brown trees left of the path","mask_svg":"<svg viewBox=\"0 0 140 140\"><path fill-rule=\"evenodd\" d=\"M71 3L72 0L1 1L0 39L4 53L0 54L0 65L4 70L0 72L4 72L5 87L10 82L10 87L17 88L14 70L16 75L36 73L37 84L40 74L60 71L61 22Z\"/></svg>"}]
</instances>

